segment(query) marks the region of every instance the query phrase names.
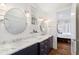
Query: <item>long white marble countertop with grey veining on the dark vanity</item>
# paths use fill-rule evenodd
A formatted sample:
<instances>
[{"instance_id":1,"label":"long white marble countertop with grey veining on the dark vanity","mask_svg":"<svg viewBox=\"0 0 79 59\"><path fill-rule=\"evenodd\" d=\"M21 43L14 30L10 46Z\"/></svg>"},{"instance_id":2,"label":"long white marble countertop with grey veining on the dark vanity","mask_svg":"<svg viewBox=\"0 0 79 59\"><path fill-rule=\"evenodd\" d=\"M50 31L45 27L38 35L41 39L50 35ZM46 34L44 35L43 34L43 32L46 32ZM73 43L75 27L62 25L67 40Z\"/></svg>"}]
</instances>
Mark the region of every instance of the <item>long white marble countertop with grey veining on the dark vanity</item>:
<instances>
[{"instance_id":1,"label":"long white marble countertop with grey veining on the dark vanity","mask_svg":"<svg viewBox=\"0 0 79 59\"><path fill-rule=\"evenodd\" d=\"M37 34L36 34L37 35ZM29 47L35 43L42 42L52 35L37 35L37 36L25 38L24 40L17 41L15 43L6 43L0 45L0 55L9 55L15 53L23 48Z\"/></svg>"}]
</instances>

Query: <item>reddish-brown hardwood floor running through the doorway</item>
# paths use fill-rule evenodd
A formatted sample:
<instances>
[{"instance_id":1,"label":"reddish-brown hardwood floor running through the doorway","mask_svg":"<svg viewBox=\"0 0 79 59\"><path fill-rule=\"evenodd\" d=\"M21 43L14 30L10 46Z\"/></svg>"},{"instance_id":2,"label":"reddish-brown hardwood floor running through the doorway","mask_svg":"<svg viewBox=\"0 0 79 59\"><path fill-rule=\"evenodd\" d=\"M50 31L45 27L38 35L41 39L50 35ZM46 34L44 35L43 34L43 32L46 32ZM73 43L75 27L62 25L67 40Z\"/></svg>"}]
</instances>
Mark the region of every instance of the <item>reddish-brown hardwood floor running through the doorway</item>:
<instances>
[{"instance_id":1,"label":"reddish-brown hardwood floor running through the doorway","mask_svg":"<svg viewBox=\"0 0 79 59\"><path fill-rule=\"evenodd\" d=\"M58 38L58 49L52 49L49 55L70 55L70 40Z\"/></svg>"}]
</instances>

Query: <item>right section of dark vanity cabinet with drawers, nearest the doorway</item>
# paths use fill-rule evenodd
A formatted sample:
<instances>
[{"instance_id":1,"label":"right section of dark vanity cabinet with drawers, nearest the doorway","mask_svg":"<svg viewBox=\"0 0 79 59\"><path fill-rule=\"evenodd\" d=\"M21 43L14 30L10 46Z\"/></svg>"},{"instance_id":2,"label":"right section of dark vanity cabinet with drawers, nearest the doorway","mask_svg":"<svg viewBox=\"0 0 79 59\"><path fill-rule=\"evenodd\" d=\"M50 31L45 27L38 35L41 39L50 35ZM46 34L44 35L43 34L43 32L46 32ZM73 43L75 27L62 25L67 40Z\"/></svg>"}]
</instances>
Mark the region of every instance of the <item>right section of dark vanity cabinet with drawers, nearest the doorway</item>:
<instances>
[{"instance_id":1,"label":"right section of dark vanity cabinet with drawers, nearest the doorway","mask_svg":"<svg viewBox=\"0 0 79 59\"><path fill-rule=\"evenodd\" d=\"M38 43L39 46L39 55L47 55L51 48L53 47L53 37L48 38L47 40Z\"/></svg>"}]
</instances>

